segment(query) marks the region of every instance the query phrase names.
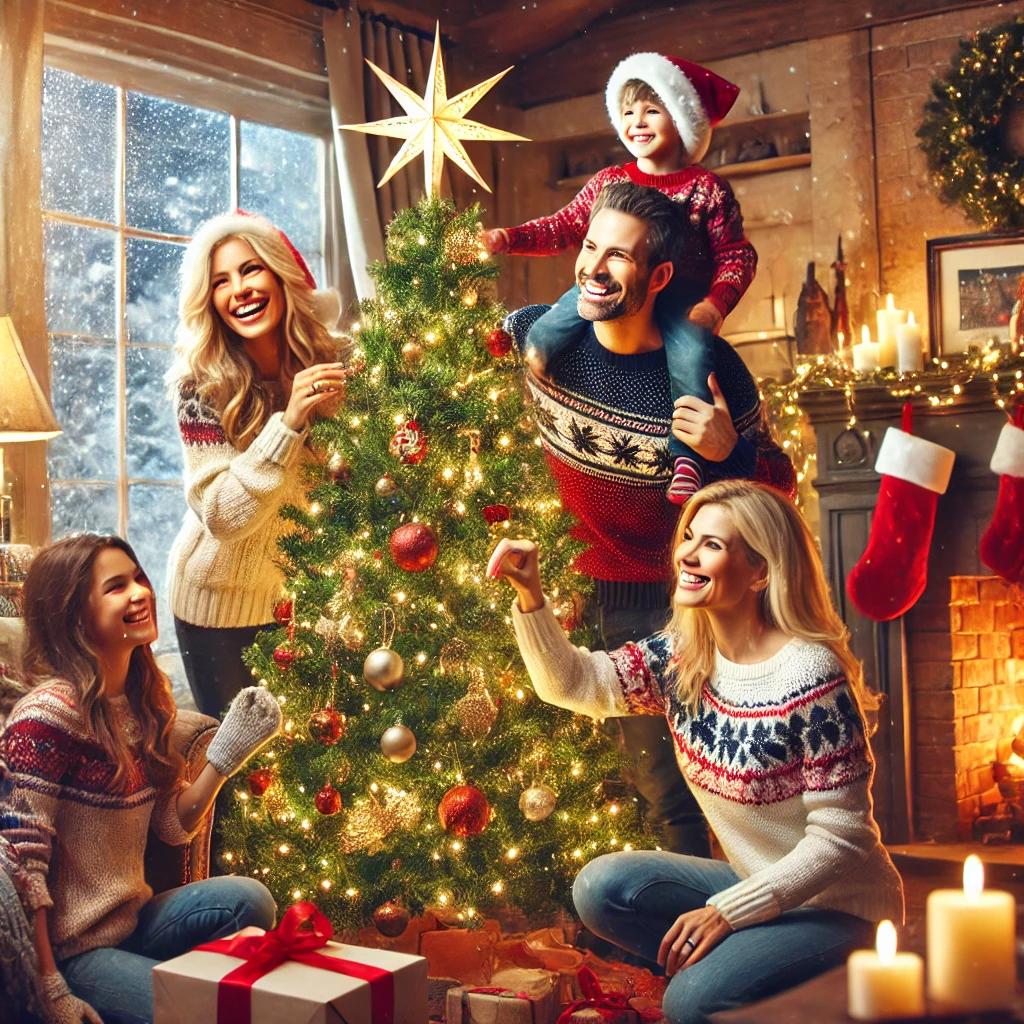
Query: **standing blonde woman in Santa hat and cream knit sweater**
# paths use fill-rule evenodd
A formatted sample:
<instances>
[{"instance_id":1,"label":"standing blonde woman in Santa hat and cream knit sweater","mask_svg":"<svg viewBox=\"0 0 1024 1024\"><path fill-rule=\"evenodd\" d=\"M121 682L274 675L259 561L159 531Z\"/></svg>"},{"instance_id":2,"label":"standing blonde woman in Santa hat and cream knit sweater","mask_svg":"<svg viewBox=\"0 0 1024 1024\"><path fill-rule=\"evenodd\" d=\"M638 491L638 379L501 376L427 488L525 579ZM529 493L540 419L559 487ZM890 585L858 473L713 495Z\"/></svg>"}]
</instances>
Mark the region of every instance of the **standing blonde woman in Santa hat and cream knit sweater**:
<instances>
[{"instance_id":1,"label":"standing blonde woman in Santa hat and cream knit sweater","mask_svg":"<svg viewBox=\"0 0 1024 1024\"><path fill-rule=\"evenodd\" d=\"M283 231L238 211L188 244L179 308L169 379L188 510L168 600L196 706L218 715L249 681L242 652L273 625L278 512L302 500L309 421L344 386L340 303Z\"/></svg>"}]
</instances>

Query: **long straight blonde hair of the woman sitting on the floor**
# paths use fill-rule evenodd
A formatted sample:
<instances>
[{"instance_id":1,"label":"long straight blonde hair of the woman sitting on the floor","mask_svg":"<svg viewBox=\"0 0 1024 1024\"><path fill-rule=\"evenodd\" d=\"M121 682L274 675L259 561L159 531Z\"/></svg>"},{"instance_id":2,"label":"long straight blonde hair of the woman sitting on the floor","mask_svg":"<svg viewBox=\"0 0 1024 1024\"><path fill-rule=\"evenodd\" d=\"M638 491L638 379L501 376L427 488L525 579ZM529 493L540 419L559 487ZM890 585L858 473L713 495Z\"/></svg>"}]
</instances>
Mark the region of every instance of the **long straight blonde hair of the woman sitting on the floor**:
<instances>
[{"instance_id":1,"label":"long straight blonde hair of the woman sitting on the floor","mask_svg":"<svg viewBox=\"0 0 1024 1024\"><path fill-rule=\"evenodd\" d=\"M698 510L721 508L742 538L752 565L764 564L767 586L760 592L764 621L786 636L818 643L836 656L861 716L867 722L879 706L864 685L860 662L850 650L850 632L833 606L814 541L799 509L770 487L749 480L722 480L698 490L679 517L672 540L675 556ZM708 614L675 604L668 630L675 634L676 686L680 701L695 709L715 670L716 645Z\"/></svg>"}]
</instances>

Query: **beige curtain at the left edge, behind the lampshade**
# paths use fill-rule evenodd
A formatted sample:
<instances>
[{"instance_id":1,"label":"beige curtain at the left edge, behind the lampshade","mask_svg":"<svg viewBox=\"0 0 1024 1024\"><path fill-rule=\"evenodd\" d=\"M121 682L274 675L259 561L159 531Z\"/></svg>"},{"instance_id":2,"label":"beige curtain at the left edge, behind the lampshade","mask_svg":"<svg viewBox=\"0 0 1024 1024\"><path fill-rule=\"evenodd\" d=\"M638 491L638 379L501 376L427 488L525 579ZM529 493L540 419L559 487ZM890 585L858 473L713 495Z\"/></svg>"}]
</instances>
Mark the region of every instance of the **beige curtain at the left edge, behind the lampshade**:
<instances>
[{"instance_id":1,"label":"beige curtain at the left edge, behind the lampshade","mask_svg":"<svg viewBox=\"0 0 1024 1024\"><path fill-rule=\"evenodd\" d=\"M0 0L0 314L12 317L48 394L42 114L43 0ZM14 498L14 540L42 544L49 539L46 443L8 444L4 457Z\"/></svg>"}]
</instances>

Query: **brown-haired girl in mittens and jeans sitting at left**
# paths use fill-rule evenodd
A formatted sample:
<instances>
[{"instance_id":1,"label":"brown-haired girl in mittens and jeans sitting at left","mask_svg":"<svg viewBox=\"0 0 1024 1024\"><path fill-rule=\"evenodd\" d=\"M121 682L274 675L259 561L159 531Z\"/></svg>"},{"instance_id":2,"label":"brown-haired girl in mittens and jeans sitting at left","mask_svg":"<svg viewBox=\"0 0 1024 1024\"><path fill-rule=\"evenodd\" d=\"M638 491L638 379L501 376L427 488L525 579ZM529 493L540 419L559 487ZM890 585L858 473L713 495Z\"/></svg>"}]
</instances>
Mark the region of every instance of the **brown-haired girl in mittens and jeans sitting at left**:
<instances>
[{"instance_id":1,"label":"brown-haired girl in mittens and jeans sitting at left","mask_svg":"<svg viewBox=\"0 0 1024 1024\"><path fill-rule=\"evenodd\" d=\"M57 541L25 584L34 686L0 735L0 844L17 857L48 1024L152 1021L158 962L273 926L273 899L254 879L154 896L143 878L150 829L188 842L224 780L281 727L266 689L243 690L189 784L169 743L177 709L151 648L156 612L117 537Z\"/></svg>"}]
</instances>

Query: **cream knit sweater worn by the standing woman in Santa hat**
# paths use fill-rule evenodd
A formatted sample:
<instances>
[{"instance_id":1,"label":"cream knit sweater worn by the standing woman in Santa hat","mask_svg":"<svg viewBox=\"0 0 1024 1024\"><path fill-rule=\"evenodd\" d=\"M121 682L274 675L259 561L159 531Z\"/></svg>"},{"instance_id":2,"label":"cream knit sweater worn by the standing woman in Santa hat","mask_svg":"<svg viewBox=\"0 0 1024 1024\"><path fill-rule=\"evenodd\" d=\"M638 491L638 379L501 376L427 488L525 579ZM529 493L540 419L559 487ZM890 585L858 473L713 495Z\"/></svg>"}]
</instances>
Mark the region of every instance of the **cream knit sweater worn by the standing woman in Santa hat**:
<instances>
[{"instance_id":1,"label":"cream knit sweater worn by the standing woman in Santa hat","mask_svg":"<svg viewBox=\"0 0 1024 1024\"><path fill-rule=\"evenodd\" d=\"M168 556L167 600L193 626L230 628L273 621L284 577L278 512L299 504L305 433L274 413L245 452L187 388L177 395L188 510Z\"/></svg>"}]
</instances>

